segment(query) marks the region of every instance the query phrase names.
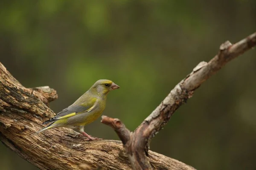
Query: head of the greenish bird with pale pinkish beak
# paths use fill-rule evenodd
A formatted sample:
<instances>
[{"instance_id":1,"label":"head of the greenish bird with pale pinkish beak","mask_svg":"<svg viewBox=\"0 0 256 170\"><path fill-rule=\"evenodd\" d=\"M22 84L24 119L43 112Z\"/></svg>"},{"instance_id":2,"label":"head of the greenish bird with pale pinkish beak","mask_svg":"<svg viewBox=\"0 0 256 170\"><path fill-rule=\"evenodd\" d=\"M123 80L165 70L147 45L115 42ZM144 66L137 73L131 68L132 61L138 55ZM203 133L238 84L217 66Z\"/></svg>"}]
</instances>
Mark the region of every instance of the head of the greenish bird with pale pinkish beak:
<instances>
[{"instance_id":1,"label":"head of the greenish bird with pale pinkish beak","mask_svg":"<svg viewBox=\"0 0 256 170\"><path fill-rule=\"evenodd\" d=\"M115 90L120 87L113 83L111 80L100 79L94 83L92 88L96 90L98 94L108 94L109 91Z\"/></svg>"}]
</instances>

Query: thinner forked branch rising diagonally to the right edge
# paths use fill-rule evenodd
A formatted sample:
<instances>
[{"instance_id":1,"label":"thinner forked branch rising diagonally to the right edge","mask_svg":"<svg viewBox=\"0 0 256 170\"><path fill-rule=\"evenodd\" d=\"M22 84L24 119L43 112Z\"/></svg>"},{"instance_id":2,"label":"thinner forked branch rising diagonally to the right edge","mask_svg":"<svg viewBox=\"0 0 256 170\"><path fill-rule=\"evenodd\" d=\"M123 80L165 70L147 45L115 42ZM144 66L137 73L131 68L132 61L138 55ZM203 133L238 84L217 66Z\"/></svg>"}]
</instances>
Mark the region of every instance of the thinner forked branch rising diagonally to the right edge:
<instances>
[{"instance_id":1,"label":"thinner forked branch rising diagonally to the right edge","mask_svg":"<svg viewBox=\"0 0 256 170\"><path fill-rule=\"evenodd\" d=\"M119 119L117 119L119 122L118 124L121 126L115 125L116 122L114 120L116 119L106 116L102 117L102 123L111 125L119 138L125 139L123 144L134 170L153 169L153 166L149 162L151 154L148 153L148 146L152 137L167 124L177 108L185 103L187 99L192 97L194 91L203 82L219 71L225 64L227 64L227 62L253 48L255 45L256 32L236 44L232 45L229 41L221 44L219 52L215 57L208 63L200 62L185 79L172 89L160 105L157 106L140 126L137 127L133 133L129 133L129 135L129 130L125 128L125 125L123 125ZM120 130L120 128L122 130ZM128 140L126 136L129 136L130 140Z\"/></svg>"}]
</instances>

